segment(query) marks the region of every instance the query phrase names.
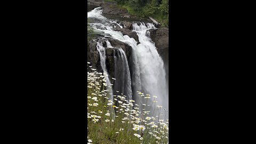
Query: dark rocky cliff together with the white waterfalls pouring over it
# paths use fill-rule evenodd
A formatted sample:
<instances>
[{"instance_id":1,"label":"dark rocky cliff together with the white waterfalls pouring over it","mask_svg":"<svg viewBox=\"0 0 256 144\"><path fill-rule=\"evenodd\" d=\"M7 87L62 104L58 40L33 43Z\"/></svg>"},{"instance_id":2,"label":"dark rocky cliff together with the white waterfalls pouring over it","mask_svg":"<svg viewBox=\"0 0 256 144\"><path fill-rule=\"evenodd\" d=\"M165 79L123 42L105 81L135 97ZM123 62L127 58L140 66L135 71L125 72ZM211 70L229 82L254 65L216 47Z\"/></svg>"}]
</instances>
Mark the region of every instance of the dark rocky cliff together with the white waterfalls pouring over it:
<instances>
[{"instance_id":1,"label":"dark rocky cliff together with the white waterfalls pouring over it","mask_svg":"<svg viewBox=\"0 0 256 144\"><path fill-rule=\"evenodd\" d=\"M163 90L166 90L167 87L165 87L165 84L163 84L165 82L163 81L166 81L168 85L169 29L156 25L154 27L150 23L146 24L147 21L141 19L134 20L128 17L122 19L125 14L110 12L108 9L111 7L108 4L102 3L101 6L102 9L93 10L94 12L89 12L90 16L88 16L96 33L87 45L87 58L92 67L103 73L104 70L101 63L103 53L104 59L106 59L105 65L109 79L116 78L121 80L114 83L113 87L119 86L116 90L122 89L123 86L120 85L131 85L131 87L121 91L127 94L131 93L130 91L132 90L132 95L134 96L137 91L143 89L145 93L156 92L159 95L166 95ZM99 14L99 11L101 14ZM121 19L107 19L102 17L103 13L117 15ZM99 44L103 49L101 54ZM138 60L136 60L137 57L139 57ZM151 60L147 57L150 57ZM158 57L161 57L161 60ZM163 62L161 63L161 61ZM140 72L138 72L138 66L140 66ZM161 71L161 67L164 67L165 73ZM138 76L138 73L140 73L140 76ZM128 75L129 77L127 77ZM166 77L162 79L160 78L161 75ZM138 82L138 79L141 82ZM157 81L157 83L154 81ZM166 100L163 99L162 103L164 101Z\"/></svg>"}]
</instances>

